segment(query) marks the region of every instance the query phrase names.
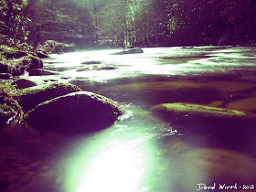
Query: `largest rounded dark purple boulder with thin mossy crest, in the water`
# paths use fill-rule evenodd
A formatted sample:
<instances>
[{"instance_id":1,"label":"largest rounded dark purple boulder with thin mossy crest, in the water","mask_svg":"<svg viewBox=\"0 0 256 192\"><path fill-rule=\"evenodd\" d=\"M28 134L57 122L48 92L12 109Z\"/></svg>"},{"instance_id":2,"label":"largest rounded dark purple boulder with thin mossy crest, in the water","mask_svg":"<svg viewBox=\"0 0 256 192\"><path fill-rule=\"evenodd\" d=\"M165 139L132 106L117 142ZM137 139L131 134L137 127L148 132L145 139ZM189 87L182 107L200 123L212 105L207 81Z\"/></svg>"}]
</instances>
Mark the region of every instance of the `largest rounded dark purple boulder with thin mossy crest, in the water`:
<instances>
[{"instance_id":1,"label":"largest rounded dark purple boulder with thin mossy crest, in the water","mask_svg":"<svg viewBox=\"0 0 256 192\"><path fill-rule=\"evenodd\" d=\"M28 113L27 122L64 133L84 133L111 126L123 113L114 101L79 91L40 103Z\"/></svg>"}]
</instances>

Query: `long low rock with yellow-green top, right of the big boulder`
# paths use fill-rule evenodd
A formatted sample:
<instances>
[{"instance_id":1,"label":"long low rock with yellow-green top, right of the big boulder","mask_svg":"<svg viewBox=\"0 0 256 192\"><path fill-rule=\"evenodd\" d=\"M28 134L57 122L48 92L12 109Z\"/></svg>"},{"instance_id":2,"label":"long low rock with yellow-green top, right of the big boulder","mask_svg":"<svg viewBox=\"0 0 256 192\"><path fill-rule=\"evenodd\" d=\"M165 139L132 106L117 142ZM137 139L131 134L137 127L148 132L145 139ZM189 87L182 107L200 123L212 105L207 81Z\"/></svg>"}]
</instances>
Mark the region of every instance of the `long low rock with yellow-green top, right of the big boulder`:
<instances>
[{"instance_id":1,"label":"long low rock with yellow-green top, right of the big boulder","mask_svg":"<svg viewBox=\"0 0 256 192\"><path fill-rule=\"evenodd\" d=\"M200 104L164 103L155 105L151 110L181 130L198 131L199 128L203 132L232 132L235 128L251 127L249 123L255 123L255 116L251 114Z\"/></svg>"}]
</instances>

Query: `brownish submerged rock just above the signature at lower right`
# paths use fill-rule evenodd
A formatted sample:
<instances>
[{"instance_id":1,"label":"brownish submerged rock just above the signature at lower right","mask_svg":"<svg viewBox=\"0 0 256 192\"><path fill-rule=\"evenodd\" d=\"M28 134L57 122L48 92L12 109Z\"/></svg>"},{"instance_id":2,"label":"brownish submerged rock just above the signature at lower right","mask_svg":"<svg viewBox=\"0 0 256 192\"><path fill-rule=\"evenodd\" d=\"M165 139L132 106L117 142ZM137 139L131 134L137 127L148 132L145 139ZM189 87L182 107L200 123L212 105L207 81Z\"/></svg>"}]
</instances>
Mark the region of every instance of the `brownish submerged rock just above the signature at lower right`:
<instances>
[{"instance_id":1,"label":"brownish submerged rock just above the signature at lower right","mask_svg":"<svg viewBox=\"0 0 256 192\"><path fill-rule=\"evenodd\" d=\"M172 180L192 181L181 191L189 191L192 184L197 187L199 183L216 183L216 189L225 183L253 183L256 176L254 158L225 149L192 149L172 160L175 173L181 173Z\"/></svg>"}]
</instances>

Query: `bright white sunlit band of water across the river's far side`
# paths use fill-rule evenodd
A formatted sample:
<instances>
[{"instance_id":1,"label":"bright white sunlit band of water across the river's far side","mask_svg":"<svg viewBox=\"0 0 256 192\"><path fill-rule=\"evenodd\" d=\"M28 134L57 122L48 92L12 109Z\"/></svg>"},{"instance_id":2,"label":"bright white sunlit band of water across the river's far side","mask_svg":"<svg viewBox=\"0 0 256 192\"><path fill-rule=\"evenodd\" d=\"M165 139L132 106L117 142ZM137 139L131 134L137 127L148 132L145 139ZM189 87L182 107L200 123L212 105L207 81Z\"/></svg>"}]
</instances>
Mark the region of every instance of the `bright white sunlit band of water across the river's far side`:
<instances>
[{"instance_id":1,"label":"bright white sunlit band of water across the river's far side","mask_svg":"<svg viewBox=\"0 0 256 192\"><path fill-rule=\"evenodd\" d=\"M120 50L91 50L45 59L46 68L67 68L65 77L105 82L145 75L193 75L205 72L228 72L255 66L255 48L195 47L195 48L144 48L143 54L111 55ZM112 70L76 71L84 67L83 61L101 61ZM54 62L49 64L48 62ZM71 69L69 69L71 68ZM229 68L229 69L227 69Z\"/></svg>"}]
</instances>

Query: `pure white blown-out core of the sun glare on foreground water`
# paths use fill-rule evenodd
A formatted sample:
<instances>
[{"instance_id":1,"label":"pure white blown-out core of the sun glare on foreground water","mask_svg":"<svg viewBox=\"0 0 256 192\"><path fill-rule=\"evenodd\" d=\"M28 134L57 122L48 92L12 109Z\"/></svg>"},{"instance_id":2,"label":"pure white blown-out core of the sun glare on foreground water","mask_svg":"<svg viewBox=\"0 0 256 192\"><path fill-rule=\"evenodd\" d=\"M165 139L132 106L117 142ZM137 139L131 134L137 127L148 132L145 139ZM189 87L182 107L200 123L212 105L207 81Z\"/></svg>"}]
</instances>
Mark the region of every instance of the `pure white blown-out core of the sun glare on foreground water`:
<instances>
[{"instance_id":1,"label":"pure white blown-out core of the sun glare on foreground water","mask_svg":"<svg viewBox=\"0 0 256 192\"><path fill-rule=\"evenodd\" d=\"M145 152L137 148L141 139L116 144L97 155L89 169L84 170L77 192L139 191L145 170ZM141 191L141 190L140 190Z\"/></svg>"}]
</instances>

